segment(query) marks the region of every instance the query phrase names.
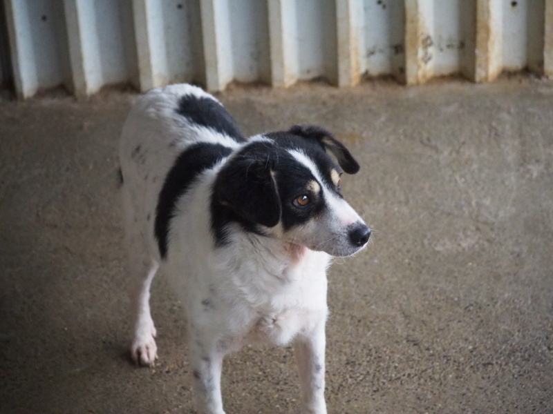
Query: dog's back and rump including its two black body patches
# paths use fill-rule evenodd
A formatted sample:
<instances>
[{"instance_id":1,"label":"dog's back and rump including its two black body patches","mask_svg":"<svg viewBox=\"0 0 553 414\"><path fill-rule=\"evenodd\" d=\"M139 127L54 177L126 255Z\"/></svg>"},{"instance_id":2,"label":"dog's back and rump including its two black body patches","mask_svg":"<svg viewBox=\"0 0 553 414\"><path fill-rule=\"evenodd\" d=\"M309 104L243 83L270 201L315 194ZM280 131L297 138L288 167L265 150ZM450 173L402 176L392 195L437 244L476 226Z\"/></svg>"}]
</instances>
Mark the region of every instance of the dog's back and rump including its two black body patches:
<instances>
[{"instance_id":1,"label":"dog's back and rump including its two black body patches","mask_svg":"<svg viewBox=\"0 0 553 414\"><path fill-rule=\"evenodd\" d=\"M136 101L123 127L120 162L129 224L146 225L142 235L153 257L167 253L172 209L186 184L244 141L232 115L196 86L158 88Z\"/></svg>"}]
</instances>

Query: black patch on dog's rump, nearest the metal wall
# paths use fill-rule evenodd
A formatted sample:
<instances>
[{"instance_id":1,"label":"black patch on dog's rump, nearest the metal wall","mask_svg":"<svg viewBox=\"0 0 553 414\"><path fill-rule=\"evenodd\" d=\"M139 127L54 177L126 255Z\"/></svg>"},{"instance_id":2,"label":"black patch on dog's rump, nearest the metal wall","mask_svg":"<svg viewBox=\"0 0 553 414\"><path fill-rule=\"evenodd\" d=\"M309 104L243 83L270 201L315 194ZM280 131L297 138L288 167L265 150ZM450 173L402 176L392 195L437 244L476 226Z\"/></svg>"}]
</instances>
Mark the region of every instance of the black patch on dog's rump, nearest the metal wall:
<instances>
[{"instance_id":1,"label":"black patch on dog's rump, nearest the metal wall","mask_svg":"<svg viewBox=\"0 0 553 414\"><path fill-rule=\"evenodd\" d=\"M183 95L178 102L176 112L195 124L212 128L235 141L245 141L232 115L214 99L191 94Z\"/></svg>"}]
</instances>

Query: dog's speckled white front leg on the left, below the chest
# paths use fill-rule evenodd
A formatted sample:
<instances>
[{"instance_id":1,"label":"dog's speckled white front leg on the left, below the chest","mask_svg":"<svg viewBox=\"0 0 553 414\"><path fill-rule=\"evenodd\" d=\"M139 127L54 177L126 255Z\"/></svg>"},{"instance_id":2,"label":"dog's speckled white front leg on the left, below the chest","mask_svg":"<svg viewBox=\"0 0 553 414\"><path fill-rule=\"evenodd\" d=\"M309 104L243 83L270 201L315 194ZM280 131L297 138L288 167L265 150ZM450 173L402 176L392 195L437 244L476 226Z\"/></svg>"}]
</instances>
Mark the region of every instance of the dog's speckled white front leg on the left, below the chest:
<instances>
[{"instance_id":1,"label":"dog's speckled white front leg on the left, below the chest","mask_svg":"<svg viewBox=\"0 0 553 414\"><path fill-rule=\"evenodd\" d=\"M221 369L224 354L214 344L196 337L189 344L196 410L200 414L225 414L221 397Z\"/></svg>"}]
</instances>

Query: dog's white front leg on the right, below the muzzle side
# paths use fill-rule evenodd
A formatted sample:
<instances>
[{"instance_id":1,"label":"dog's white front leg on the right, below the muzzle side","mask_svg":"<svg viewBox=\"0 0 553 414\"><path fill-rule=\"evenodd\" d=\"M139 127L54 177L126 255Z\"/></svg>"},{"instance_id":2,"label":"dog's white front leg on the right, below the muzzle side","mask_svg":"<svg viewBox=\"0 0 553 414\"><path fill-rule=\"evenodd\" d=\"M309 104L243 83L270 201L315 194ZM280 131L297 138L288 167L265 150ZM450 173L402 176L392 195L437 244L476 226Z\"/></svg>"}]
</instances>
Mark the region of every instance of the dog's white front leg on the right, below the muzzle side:
<instances>
[{"instance_id":1,"label":"dog's white front leg on the right, below the muzzle side","mask_svg":"<svg viewBox=\"0 0 553 414\"><path fill-rule=\"evenodd\" d=\"M299 371L303 413L326 414L324 401L324 351L326 337L324 321L308 335L294 342L294 356Z\"/></svg>"}]
</instances>

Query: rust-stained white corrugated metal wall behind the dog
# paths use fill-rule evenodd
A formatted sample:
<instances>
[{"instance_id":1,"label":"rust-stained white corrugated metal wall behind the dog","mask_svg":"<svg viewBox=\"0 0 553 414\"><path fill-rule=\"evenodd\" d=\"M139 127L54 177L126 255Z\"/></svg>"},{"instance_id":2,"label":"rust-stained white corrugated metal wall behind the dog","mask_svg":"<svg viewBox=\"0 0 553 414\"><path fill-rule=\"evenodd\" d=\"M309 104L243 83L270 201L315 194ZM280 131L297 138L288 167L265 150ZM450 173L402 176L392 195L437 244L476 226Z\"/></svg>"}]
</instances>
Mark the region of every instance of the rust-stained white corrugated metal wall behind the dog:
<instances>
[{"instance_id":1,"label":"rust-stained white corrugated metal wall behind the dog","mask_svg":"<svg viewBox=\"0 0 553 414\"><path fill-rule=\"evenodd\" d=\"M0 79L21 98L60 85L86 96L118 83L553 77L553 0L0 1Z\"/></svg>"}]
</instances>

